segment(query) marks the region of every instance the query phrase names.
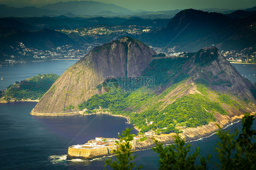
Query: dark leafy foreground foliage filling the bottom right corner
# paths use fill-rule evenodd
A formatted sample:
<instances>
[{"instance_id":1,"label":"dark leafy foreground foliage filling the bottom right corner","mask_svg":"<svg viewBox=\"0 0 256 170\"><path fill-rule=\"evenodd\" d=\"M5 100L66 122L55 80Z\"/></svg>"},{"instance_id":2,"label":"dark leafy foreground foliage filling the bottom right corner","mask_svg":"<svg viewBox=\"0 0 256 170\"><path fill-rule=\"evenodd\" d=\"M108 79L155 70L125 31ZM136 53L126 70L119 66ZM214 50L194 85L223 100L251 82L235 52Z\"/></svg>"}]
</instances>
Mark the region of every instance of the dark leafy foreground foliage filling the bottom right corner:
<instances>
[{"instance_id":1,"label":"dark leafy foreground foliage filling the bottom right corner","mask_svg":"<svg viewBox=\"0 0 256 170\"><path fill-rule=\"evenodd\" d=\"M246 113L242 119L242 132L229 134L228 131L220 130L216 135L220 141L215 147L217 156L220 159L221 170L255 170L256 169L256 130L251 130L251 125L254 118L253 115Z\"/></svg>"}]
</instances>

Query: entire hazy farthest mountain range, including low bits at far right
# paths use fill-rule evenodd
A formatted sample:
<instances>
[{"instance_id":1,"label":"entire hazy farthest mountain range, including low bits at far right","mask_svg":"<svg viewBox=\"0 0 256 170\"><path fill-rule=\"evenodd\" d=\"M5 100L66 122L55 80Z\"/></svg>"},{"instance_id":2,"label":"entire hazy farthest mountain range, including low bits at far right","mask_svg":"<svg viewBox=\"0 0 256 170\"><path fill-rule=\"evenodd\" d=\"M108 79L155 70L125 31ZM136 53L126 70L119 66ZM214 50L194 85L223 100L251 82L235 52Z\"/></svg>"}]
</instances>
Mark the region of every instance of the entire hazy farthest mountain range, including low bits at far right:
<instances>
[{"instance_id":1,"label":"entire hazy farthest mountain range, including low bits at far right","mask_svg":"<svg viewBox=\"0 0 256 170\"><path fill-rule=\"evenodd\" d=\"M220 12L230 14L235 10L209 8L201 9L209 12ZM243 9L246 11L256 10L256 7ZM107 4L96 1L69 1L57 2L55 4L47 4L40 8L34 6L26 6L23 8L15 8L7 5L0 5L1 17L38 17L38 16L59 16L66 15L68 17L75 16L122 16L140 18L157 19L157 18L172 18L181 10L166 10L166 11L145 11L145 10L128 10L118 5Z\"/></svg>"}]
</instances>

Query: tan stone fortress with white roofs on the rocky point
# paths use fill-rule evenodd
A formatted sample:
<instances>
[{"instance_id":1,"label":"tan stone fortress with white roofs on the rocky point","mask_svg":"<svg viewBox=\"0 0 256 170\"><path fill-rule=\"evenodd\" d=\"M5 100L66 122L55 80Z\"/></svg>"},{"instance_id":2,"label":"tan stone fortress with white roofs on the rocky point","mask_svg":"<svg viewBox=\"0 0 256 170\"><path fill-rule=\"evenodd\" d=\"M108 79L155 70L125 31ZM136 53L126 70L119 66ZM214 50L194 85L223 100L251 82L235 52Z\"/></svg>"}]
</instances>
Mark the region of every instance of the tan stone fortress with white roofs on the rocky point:
<instances>
[{"instance_id":1,"label":"tan stone fortress with white roofs on the rocky point","mask_svg":"<svg viewBox=\"0 0 256 170\"><path fill-rule=\"evenodd\" d=\"M88 159L112 155L113 150L117 150L116 138L97 137L89 140L84 145L72 145L68 147L67 159Z\"/></svg>"}]
</instances>

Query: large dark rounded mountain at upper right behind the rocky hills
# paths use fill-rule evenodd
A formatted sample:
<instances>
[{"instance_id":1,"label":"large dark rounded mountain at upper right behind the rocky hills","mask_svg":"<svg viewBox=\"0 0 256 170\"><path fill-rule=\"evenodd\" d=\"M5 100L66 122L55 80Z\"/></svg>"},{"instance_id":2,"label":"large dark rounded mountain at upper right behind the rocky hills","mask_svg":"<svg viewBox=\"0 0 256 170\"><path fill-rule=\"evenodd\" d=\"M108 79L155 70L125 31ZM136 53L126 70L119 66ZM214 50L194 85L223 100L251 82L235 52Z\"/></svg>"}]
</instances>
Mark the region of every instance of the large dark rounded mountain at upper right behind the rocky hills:
<instances>
[{"instance_id":1,"label":"large dark rounded mountain at upper right behind the rocky hills","mask_svg":"<svg viewBox=\"0 0 256 170\"><path fill-rule=\"evenodd\" d=\"M221 50L241 50L256 45L256 33L251 27L255 22L255 15L231 19L219 13L188 9L176 14L165 28L142 34L139 40L165 50L175 46L180 52L209 45Z\"/></svg>"}]
</instances>

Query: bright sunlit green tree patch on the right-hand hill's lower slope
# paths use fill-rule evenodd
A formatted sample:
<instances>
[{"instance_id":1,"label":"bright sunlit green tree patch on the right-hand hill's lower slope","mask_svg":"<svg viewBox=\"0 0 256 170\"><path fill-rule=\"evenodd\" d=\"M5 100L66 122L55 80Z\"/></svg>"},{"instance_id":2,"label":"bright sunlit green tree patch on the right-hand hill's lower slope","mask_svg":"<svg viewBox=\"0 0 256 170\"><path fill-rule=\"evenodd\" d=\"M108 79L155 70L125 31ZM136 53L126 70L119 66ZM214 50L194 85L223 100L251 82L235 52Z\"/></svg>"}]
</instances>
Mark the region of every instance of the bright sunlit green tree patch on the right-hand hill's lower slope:
<instances>
[{"instance_id":1,"label":"bright sunlit green tree patch on the right-hand hill's lower slope","mask_svg":"<svg viewBox=\"0 0 256 170\"><path fill-rule=\"evenodd\" d=\"M210 101L206 96L193 94L184 95L175 100L172 104L167 105L159 115L165 113L162 120L167 124L173 123L173 120L177 120L177 122L179 120L180 122L185 122L188 127L196 127L215 121L215 117L209 112L227 115L227 112L219 103Z\"/></svg>"}]
</instances>

